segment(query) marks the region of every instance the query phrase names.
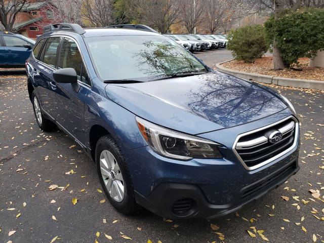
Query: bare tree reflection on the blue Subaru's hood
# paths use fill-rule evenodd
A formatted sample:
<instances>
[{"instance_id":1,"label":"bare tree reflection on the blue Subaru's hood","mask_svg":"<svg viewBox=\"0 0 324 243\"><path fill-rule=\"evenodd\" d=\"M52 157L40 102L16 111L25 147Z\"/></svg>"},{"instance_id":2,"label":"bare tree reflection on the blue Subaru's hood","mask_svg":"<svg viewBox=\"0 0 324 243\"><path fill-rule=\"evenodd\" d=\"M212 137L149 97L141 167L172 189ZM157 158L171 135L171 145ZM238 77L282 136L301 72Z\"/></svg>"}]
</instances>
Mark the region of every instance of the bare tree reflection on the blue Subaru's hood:
<instances>
[{"instance_id":1,"label":"bare tree reflection on the blue Subaru's hood","mask_svg":"<svg viewBox=\"0 0 324 243\"><path fill-rule=\"evenodd\" d=\"M228 79L225 75L213 72L203 77L204 85L191 90L189 94L192 103L188 103L191 110L214 120L220 125L231 126L247 123L258 116L263 117L264 111L273 114L285 107L271 94L247 84L241 85L235 77Z\"/></svg>"}]
</instances>

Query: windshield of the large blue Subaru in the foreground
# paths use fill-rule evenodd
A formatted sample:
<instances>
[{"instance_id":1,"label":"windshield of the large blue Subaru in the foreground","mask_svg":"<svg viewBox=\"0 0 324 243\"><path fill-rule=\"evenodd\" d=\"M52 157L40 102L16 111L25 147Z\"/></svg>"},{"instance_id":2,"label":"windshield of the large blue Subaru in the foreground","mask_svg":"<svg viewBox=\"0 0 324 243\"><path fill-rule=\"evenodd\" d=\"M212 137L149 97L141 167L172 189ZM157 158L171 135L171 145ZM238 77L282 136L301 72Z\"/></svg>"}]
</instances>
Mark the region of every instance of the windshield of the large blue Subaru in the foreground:
<instances>
[{"instance_id":1,"label":"windshield of the large blue Subaru in the foreground","mask_svg":"<svg viewBox=\"0 0 324 243\"><path fill-rule=\"evenodd\" d=\"M103 80L143 82L177 73L208 72L186 49L165 36L121 35L85 39Z\"/></svg>"}]
</instances>

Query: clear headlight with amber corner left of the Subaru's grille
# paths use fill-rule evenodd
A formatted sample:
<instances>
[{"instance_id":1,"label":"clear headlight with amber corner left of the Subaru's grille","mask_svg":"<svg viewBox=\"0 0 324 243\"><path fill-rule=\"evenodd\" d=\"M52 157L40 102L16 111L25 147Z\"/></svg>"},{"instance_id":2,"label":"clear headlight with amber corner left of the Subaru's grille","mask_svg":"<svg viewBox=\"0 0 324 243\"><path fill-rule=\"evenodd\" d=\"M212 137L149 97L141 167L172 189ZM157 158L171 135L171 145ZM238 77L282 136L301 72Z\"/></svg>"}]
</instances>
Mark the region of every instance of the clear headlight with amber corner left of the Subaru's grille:
<instances>
[{"instance_id":1,"label":"clear headlight with amber corner left of the Subaru's grille","mask_svg":"<svg viewBox=\"0 0 324 243\"><path fill-rule=\"evenodd\" d=\"M180 160L222 158L218 143L160 127L136 117L138 128L148 145L158 154Z\"/></svg>"}]
</instances>

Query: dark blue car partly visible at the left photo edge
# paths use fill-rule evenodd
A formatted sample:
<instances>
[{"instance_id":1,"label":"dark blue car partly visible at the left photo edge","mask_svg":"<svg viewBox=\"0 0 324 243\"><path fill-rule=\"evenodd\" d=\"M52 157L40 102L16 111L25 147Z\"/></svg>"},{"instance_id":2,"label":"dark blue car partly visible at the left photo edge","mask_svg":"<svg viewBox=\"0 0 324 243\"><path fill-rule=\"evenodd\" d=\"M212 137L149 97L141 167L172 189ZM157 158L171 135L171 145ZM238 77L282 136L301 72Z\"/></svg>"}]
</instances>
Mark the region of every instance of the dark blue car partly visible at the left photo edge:
<instances>
[{"instance_id":1,"label":"dark blue car partly visible at the left photo edge","mask_svg":"<svg viewBox=\"0 0 324 243\"><path fill-rule=\"evenodd\" d=\"M0 32L0 66L24 67L35 41L21 34Z\"/></svg>"}]
</instances>

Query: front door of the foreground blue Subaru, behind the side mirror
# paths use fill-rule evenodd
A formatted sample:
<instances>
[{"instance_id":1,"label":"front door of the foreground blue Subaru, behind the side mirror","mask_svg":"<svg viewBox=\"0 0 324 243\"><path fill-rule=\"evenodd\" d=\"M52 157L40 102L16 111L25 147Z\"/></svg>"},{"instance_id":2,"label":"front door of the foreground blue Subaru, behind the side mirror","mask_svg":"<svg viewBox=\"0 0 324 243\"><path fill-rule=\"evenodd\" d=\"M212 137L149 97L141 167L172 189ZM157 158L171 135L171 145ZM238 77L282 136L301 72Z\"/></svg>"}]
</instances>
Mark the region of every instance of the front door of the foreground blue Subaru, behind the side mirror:
<instances>
[{"instance_id":1,"label":"front door of the foreground blue Subaru, behind the side mirror","mask_svg":"<svg viewBox=\"0 0 324 243\"><path fill-rule=\"evenodd\" d=\"M82 55L74 39L64 37L57 68L74 68L80 89L75 92L71 84L54 82L56 89L52 103L55 105L55 119L78 142L85 141L83 130L84 102L91 88L91 82Z\"/></svg>"}]
</instances>

